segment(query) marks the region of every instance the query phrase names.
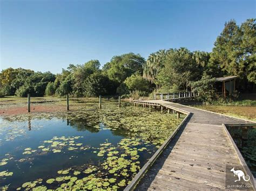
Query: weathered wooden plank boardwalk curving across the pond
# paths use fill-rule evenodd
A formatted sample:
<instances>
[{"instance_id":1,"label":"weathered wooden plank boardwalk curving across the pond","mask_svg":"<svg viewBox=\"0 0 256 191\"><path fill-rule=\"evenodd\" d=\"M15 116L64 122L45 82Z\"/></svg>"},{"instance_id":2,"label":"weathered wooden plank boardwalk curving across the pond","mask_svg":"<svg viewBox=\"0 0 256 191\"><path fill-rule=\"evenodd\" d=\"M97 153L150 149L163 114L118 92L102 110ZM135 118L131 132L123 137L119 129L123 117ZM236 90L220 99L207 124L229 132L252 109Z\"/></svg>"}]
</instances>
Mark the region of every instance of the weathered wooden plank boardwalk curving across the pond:
<instances>
[{"instance_id":1,"label":"weathered wooden plank boardwalk curving across the pond","mask_svg":"<svg viewBox=\"0 0 256 191\"><path fill-rule=\"evenodd\" d=\"M191 112L177 135L140 180L136 190L225 189L226 165L240 165L222 126L247 121L163 100L147 104L170 105Z\"/></svg>"}]
</instances>

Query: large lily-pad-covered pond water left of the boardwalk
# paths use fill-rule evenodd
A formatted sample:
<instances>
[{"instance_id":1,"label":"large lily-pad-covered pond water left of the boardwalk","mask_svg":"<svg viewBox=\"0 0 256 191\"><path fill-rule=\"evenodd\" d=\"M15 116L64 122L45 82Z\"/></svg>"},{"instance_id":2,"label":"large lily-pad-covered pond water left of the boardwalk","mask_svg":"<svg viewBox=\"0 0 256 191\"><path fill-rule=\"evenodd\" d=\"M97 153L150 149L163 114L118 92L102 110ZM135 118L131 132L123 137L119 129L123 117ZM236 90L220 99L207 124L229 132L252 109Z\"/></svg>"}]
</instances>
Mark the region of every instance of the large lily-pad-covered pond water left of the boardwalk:
<instances>
[{"instance_id":1,"label":"large lily-pad-covered pond water left of the boardwalk","mask_svg":"<svg viewBox=\"0 0 256 191\"><path fill-rule=\"evenodd\" d=\"M124 189L185 117L125 105L0 118L0 187Z\"/></svg>"}]
</instances>

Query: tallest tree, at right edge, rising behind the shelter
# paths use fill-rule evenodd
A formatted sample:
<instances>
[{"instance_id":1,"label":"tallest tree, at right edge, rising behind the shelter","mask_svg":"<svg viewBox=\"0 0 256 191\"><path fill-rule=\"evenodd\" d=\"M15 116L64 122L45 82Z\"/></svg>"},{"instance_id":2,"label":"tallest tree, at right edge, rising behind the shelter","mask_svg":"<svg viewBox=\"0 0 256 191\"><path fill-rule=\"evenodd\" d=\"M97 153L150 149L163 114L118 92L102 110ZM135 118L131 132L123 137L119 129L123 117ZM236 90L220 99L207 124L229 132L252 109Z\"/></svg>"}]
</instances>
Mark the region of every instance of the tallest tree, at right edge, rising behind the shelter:
<instances>
[{"instance_id":1,"label":"tallest tree, at right edge, rising behind the shelter","mask_svg":"<svg viewBox=\"0 0 256 191\"><path fill-rule=\"evenodd\" d=\"M241 87L246 89L248 82L256 83L255 44L255 19L247 19L240 27L230 20L214 43L211 65L220 68L221 75L239 76Z\"/></svg>"}]
</instances>

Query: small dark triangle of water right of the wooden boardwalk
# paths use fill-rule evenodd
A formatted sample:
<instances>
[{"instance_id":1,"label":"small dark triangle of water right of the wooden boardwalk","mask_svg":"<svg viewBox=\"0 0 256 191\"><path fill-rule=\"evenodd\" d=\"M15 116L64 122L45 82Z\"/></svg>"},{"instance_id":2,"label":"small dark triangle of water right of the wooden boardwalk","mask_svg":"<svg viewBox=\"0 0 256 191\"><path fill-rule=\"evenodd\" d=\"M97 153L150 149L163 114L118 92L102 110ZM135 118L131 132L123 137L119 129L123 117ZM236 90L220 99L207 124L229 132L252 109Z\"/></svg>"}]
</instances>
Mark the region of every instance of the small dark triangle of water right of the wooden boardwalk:
<instances>
[{"instance_id":1,"label":"small dark triangle of water right of the wooden boardwalk","mask_svg":"<svg viewBox=\"0 0 256 191\"><path fill-rule=\"evenodd\" d=\"M226 127L256 178L256 126L226 125Z\"/></svg>"}]
</instances>

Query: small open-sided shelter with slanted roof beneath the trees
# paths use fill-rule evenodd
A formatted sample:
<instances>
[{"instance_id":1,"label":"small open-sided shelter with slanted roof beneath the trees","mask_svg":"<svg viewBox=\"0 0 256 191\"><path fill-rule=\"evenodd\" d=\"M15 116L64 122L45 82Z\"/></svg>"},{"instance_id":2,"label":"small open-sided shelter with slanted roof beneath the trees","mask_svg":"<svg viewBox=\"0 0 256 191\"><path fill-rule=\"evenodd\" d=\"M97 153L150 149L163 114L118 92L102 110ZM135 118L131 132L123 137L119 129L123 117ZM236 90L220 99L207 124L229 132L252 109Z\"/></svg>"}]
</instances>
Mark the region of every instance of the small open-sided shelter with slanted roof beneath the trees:
<instances>
[{"instance_id":1,"label":"small open-sided shelter with slanted roof beneath the trees","mask_svg":"<svg viewBox=\"0 0 256 191\"><path fill-rule=\"evenodd\" d=\"M215 85L219 94L226 98L226 95L232 95L235 91L235 79L237 76L216 77Z\"/></svg>"}]
</instances>

